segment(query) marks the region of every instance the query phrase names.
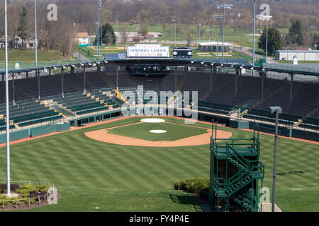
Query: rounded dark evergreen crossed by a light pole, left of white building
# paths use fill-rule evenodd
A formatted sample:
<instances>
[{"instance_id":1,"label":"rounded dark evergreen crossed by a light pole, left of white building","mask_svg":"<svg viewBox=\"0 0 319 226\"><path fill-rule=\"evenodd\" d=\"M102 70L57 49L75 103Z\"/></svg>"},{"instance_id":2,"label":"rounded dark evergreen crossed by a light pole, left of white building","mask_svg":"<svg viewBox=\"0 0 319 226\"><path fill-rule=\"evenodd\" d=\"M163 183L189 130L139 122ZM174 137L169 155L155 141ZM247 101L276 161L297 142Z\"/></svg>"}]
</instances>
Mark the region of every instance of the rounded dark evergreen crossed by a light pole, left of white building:
<instances>
[{"instance_id":1,"label":"rounded dark evergreen crossed by a light pole, left of white building","mask_svg":"<svg viewBox=\"0 0 319 226\"><path fill-rule=\"evenodd\" d=\"M259 38L258 47L260 49L264 49L266 52L266 40L267 40L267 28L264 28L262 32L262 36ZM274 56L276 54L276 50L281 49L283 46L283 40L279 33L279 30L276 28L268 29L268 55Z\"/></svg>"}]
</instances>

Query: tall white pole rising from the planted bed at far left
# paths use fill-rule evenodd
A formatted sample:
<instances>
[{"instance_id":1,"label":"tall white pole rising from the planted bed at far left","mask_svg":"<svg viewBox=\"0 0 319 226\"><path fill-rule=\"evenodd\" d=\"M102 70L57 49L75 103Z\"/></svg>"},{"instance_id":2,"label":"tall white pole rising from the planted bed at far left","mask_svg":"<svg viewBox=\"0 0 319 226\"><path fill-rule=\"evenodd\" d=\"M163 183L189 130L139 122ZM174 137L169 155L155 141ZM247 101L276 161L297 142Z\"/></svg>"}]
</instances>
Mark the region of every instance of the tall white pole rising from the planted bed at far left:
<instances>
[{"instance_id":1,"label":"tall white pole rising from the planted bed at far left","mask_svg":"<svg viewBox=\"0 0 319 226\"><path fill-rule=\"evenodd\" d=\"M11 196L10 191L10 116L9 116L9 81L8 81L8 15L7 2L4 0L4 42L6 58L6 195Z\"/></svg>"}]
</instances>

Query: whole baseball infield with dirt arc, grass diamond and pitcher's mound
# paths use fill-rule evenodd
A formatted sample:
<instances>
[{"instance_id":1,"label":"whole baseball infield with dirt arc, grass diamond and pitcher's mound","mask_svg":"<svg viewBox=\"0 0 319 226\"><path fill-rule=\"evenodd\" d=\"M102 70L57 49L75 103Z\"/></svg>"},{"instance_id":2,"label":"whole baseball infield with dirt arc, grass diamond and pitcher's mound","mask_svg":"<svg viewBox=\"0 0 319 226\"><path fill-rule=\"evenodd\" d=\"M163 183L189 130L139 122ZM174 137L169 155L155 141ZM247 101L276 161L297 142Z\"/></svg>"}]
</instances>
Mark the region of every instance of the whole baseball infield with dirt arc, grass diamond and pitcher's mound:
<instances>
[{"instance_id":1,"label":"whole baseball infield with dirt arc, grass diamond and pitcher's mound","mask_svg":"<svg viewBox=\"0 0 319 226\"><path fill-rule=\"evenodd\" d=\"M176 123L169 119L142 118L134 123L130 121L122 126L89 131L84 134L96 141L116 145L181 147L209 145L211 133L211 129L184 124L184 121ZM218 138L230 138L231 136L232 133L229 131L218 131Z\"/></svg>"}]
</instances>

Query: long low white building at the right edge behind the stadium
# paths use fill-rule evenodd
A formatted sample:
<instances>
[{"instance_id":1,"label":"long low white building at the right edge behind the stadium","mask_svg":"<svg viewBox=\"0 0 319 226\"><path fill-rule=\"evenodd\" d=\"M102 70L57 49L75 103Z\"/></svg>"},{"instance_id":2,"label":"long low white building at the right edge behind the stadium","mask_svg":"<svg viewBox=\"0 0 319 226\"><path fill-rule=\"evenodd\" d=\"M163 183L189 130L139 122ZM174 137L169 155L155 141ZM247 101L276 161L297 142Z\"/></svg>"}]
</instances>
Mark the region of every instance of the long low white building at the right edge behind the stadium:
<instances>
[{"instance_id":1,"label":"long low white building at the right edge behind the stadium","mask_svg":"<svg viewBox=\"0 0 319 226\"><path fill-rule=\"evenodd\" d=\"M319 61L319 50L277 50L276 60L292 61L293 57L298 61Z\"/></svg>"}]
</instances>

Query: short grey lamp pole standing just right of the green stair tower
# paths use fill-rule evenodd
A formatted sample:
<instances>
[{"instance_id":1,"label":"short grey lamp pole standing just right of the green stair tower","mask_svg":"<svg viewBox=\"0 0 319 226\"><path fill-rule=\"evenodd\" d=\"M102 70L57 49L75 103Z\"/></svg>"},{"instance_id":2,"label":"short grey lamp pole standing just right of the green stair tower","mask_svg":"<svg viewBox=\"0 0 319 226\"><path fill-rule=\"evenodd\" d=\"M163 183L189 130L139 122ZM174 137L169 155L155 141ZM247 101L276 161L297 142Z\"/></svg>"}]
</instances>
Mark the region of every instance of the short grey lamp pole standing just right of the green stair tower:
<instances>
[{"instance_id":1,"label":"short grey lamp pole standing just right of the green stair tower","mask_svg":"<svg viewBox=\"0 0 319 226\"><path fill-rule=\"evenodd\" d=\"M272 184L272 212L275 207L275 191L276 191L276 170L277 170L277 143L278 143L278 121L279 114L282 113L281 107L270 107L272 114L276 112L276 132L275 132L275 143L274 143L274 172L273 172L273 184Z\"/></svg>"}]
</instances>

